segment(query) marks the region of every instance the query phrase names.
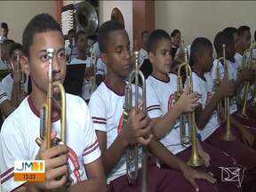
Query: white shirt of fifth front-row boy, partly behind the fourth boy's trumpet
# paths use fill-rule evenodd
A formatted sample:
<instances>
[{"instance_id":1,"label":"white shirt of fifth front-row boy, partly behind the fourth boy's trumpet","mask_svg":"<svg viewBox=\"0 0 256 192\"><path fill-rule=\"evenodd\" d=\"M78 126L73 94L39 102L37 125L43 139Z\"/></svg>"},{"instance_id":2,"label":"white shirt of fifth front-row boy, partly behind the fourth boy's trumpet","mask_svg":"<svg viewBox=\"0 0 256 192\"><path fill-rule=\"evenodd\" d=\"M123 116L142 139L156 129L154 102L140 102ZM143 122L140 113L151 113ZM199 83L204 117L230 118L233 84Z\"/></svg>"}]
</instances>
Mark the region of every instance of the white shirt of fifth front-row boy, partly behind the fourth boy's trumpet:
<instances>
[{"instance_id":1,"label":"white shirt of fifth front-row boy, partly behind the fourth boy's trumpet","mask_svg":"<svg viewBox=\"0 0 256 192\"><path fill-rule=\"evenodd\" d=\"M228 79L229 80L234 80L236 81L237 78L237 68L239 67L238 62L231 62L228 60ZM212 70L211 70L211 76L212 79L216 79L216 68L217 68L217 60L213 61L213 66L212 66ZM223 79L224 78L224 66L221 64L221 62L219 63L219 68L220 68L220 78ZM230 114L236 113L237 111L237 102L236 102L236 96L230 98Z\"/></svg>"}]
</instances>

